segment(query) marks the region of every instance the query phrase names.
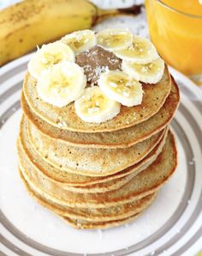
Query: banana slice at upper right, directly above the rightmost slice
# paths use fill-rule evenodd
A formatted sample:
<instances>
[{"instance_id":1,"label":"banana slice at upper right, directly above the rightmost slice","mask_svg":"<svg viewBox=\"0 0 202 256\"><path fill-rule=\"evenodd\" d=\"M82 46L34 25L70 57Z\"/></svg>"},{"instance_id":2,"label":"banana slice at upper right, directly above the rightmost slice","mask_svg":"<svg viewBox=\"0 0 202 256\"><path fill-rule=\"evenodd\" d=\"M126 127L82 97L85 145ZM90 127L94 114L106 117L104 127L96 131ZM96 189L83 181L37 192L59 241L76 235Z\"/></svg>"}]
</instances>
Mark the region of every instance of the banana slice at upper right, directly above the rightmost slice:
<instances>
[{"instance_id":1,"label":"banana slice at upper right, directly above the rightmost slice","mask_svg":"<svg viewBox=\"0 0 202 256\"><path fill-rule=\"evenodd\" d=\"M128 48L114 52L118 58L133 61L137 64L147 64L159 58L155 46L150 40L134 36L133 43Z\"/></svg>"}]
</instances>

